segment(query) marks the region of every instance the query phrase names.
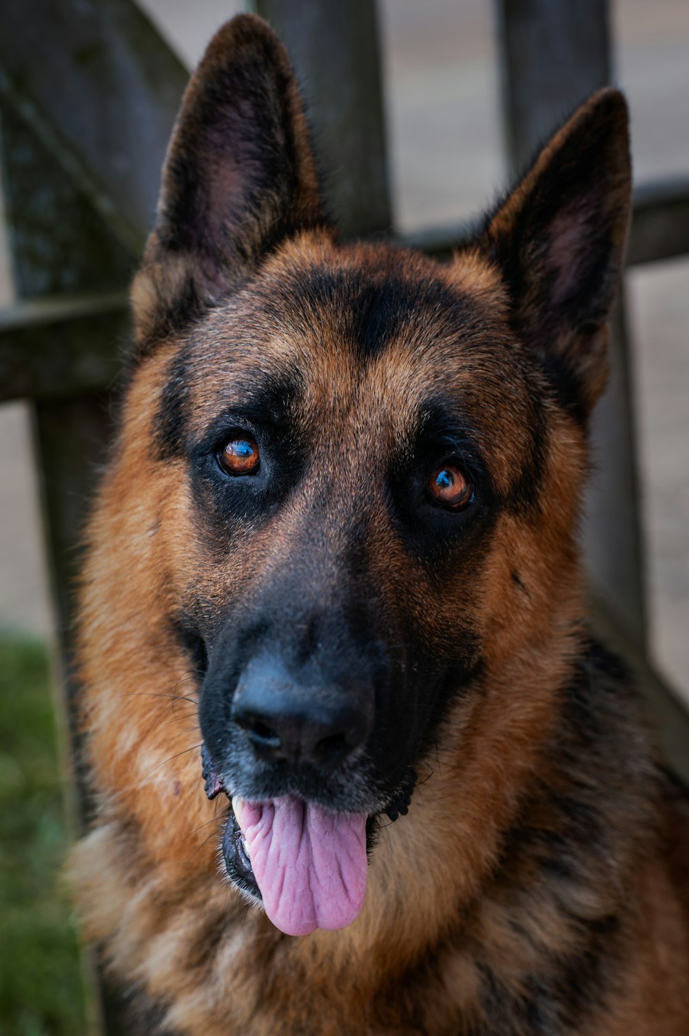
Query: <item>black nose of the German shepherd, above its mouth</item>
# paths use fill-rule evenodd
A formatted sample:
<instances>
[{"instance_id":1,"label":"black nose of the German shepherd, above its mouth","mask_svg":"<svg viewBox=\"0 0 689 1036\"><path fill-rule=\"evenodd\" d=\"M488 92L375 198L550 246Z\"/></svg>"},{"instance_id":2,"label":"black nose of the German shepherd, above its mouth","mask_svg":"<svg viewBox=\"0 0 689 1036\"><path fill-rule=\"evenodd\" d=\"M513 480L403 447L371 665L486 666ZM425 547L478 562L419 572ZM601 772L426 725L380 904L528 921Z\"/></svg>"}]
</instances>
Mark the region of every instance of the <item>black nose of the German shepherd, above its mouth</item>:
<instances>
[{"instance_id":1,"label":"black nose of the German shepherd, above its mouth","mask_svg":"<svg viewBox=\"0 0 689 1036\"><path fill-rule=\"evenodd\" d=\"M270 664L251 665L232 702L232 719L259 758L294 770L334 770L368 738L371 713L360 688L303 686Z\"/></svg>"}]
</instances>

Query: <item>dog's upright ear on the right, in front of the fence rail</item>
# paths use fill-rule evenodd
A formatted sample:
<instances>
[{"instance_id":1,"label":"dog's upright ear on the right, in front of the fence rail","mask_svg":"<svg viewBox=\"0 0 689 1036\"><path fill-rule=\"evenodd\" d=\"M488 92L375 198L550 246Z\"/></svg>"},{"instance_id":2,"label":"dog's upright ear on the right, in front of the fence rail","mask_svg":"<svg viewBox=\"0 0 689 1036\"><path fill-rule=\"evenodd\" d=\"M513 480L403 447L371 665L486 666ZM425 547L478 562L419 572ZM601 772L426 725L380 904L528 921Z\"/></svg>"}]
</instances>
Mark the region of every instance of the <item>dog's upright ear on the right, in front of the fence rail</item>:
<instances>
[{"instance_id":1,"label":"dog's upright ear on the right, in front of the fence rail","mask_svg":"<svg viewBox=\"0 0 689 1036\"><path fill-rule=\"evenodd\" d=\"M479 238L501 271L516 330L584 415L607 378L630 198L627 104L608 88L546 144Z\"/></svg>"}]
</instances>

